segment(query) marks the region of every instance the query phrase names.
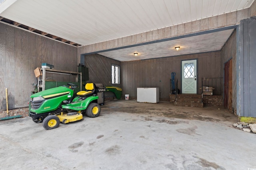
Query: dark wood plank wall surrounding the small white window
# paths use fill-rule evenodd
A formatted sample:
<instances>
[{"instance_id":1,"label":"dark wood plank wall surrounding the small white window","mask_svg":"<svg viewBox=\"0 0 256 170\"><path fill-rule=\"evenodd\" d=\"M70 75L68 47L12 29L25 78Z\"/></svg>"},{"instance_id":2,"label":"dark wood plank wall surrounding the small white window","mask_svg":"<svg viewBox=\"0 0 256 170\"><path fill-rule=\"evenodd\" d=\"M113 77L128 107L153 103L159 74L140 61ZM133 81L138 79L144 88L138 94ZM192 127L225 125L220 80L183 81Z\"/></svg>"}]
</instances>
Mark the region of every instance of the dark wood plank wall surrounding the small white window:
<instances>
[{"instance_id":1,"label":"dark wood plank wall surrounding the small white window","mask_svg":"<svg viewBox=\"0 0 256 170\"><path fill-rule=\"evenodd\" d=\"M89 80L87 82L102 83L104 86L117 86L121 84L112 84L112 64L120 66L120 61L108 57L93 54L84 57L84 65L89 70Z\"/></svg>"}]
</instances>

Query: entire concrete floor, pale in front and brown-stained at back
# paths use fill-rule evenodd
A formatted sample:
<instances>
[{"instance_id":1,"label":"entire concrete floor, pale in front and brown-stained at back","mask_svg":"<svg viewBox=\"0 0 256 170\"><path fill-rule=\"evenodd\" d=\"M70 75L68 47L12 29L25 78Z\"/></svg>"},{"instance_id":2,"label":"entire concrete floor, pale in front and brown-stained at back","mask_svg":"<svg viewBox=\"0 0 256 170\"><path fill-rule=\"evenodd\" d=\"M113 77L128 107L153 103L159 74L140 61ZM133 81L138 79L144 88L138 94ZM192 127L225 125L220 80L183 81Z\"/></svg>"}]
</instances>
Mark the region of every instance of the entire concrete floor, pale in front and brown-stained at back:
<instances>
[{"instance_id":1,"label":"entire concrete floor, pale in front and brown-stained at back","mask_svg":"<svg viewBox=\"0 0 256 170\"><path fill-rule=\"evenodd\" d=\"M97 118L45 130L30 117L0 122L3 170L248 170L256 134L218 107L115 100Z\"/></svg>"}]
</instances>

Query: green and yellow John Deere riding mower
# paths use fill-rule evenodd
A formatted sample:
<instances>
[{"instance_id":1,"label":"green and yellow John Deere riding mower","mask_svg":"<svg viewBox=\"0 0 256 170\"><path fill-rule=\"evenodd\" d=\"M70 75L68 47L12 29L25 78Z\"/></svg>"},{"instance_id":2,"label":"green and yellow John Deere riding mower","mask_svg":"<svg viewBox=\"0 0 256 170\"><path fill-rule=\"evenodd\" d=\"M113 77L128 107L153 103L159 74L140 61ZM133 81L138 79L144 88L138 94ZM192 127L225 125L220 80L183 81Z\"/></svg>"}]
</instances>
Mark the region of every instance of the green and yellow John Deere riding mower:
<instances>
[{"instance_id":1,"label":"green and yellow John Deere riding mower","mask_svg":"<svg viewBox=\"0 0 256 170\"><path fill-rule=\"evenodd\" d=\"M36 123L43 123L44 129L54 129L63 124L83 119L82 113L88 117L100 115L98 96L93 83L85 85L86 91L74 95L77 85L51 88L32 94L29 102L29 116Z\"/></svg>"}]
</instances>

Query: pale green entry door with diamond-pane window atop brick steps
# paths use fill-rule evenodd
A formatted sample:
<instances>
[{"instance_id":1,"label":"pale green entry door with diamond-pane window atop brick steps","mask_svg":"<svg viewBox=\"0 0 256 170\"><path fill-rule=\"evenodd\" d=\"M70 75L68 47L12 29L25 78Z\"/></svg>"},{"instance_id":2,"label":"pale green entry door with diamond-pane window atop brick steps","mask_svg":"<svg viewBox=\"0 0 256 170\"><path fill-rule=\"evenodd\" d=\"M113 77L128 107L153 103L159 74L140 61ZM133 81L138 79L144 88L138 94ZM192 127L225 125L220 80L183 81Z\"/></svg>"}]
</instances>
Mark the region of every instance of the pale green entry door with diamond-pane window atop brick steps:
<instances>
[{"instance_id":1,"label":"pale green entry door with diamond-pane window atop brick steps","mask_svg":"<svg viewBox=\"0 0 256 170\"><path fill-rule=\"evenodd\" d=\"M196 94L196 65L197 60L182 61L182 93L184 94Z\"/></svg>"}]
</instances>

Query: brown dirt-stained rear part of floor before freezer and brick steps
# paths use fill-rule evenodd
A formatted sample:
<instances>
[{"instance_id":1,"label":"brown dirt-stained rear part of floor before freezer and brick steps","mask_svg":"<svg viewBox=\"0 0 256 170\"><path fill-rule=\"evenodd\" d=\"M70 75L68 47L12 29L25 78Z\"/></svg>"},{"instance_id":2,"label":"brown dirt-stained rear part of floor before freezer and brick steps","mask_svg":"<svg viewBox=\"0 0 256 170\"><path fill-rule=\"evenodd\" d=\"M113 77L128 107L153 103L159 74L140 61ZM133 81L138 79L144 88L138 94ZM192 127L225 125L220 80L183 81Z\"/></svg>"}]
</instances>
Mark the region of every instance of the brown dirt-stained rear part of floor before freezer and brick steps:
<instances>
[{"instance_id":1,"label":"brown dirt-stained rear part of floor before freezer and brick steps","mask_svg":"<svg viewBox=\"0 0 256 170\"><path fill-rule=\"evenodd\" d=\"M152 104L139 103L136 100L114 100L105 102L105 105L102 106L102 111L108 112L108 110L228 124L238 121L238 117L224 107L182 107L174 106L170 102Z\"/></svg>"}]
</instances>

